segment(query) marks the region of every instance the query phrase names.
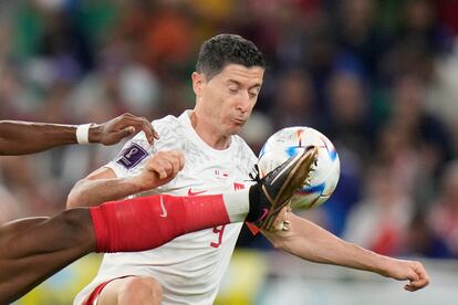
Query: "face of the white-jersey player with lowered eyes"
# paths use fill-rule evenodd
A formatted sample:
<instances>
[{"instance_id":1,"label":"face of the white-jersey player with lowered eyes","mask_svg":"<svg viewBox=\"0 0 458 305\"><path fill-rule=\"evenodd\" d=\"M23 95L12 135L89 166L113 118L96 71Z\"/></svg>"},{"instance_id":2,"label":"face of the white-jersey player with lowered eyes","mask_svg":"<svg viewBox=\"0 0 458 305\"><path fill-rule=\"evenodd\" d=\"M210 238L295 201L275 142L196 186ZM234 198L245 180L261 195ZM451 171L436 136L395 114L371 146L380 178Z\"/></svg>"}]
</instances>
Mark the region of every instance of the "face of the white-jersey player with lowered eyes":
<instances>
[{"instance_id":1,"label":"face of the white-jersey player with lowered eyes","mask_svg":"<svg viewBox=\"0 0 458 305\"><path fill-rule=\"evenodd\" d=\"M201 74L195 74L196 111L221 136L237 134L256 105L264 69L228 64L209 81ZM196 81L200 83L197 84Z\"/></svg>"}]
</instances>

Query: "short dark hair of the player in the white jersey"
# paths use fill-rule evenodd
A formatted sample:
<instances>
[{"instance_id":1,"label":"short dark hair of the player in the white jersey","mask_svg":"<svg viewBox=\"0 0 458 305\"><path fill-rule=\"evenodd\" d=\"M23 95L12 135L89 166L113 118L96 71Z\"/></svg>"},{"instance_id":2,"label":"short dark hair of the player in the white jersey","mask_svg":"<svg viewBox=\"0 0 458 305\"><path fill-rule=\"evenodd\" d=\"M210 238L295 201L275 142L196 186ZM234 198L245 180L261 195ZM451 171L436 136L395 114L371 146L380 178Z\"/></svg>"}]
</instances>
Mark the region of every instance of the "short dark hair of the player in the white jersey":
<instances>
[{"instance_id":1,"label":"short dark hair of the player in the white jersey","mask_svg":"<svg viewBox=\"0 0 458 305\"><path fill-rule=\"evenodd\" d=\"M266 67L258 46L240 35L219 34L200 46L196 71L202 73L207 81L221 72L227 64Z\"/></svg>"}]
</instances>

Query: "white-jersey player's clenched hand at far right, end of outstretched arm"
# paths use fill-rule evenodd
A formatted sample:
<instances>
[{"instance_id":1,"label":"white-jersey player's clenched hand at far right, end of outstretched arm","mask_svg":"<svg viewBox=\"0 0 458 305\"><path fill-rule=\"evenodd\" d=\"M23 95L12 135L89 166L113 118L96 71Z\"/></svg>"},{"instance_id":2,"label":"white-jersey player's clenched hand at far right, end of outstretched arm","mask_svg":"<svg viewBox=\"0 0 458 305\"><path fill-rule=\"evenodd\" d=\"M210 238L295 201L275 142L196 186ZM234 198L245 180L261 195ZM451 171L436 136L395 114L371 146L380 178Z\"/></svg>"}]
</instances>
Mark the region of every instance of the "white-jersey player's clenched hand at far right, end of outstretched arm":
<instances>
[{"instance_id":1,"label":"white-jersey player's clenched hand at far right, end of outstretched arm","mask_svg":"<svg viewBox=\"0 0 458 305\"><path fill-rule=\"evenodd\" d=\"M381 274L398 281L409 281L409 283L404 286L404 288L409 292L415 292L429 284L428 273L423 264L416 261L393 259L389 262L389 269Z\"/></svg>"}]
</instances>

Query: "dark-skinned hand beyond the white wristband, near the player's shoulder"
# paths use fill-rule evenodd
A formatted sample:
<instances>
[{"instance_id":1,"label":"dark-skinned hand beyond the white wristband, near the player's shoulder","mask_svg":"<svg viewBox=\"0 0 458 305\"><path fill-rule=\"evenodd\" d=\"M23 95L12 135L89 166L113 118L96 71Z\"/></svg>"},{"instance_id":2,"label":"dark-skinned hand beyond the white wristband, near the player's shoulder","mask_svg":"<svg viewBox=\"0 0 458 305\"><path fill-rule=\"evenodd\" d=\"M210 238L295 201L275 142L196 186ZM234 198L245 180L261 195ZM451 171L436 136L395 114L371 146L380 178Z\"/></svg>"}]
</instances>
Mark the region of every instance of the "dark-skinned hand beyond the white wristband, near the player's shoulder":
<instances>
[{"instance_id":1,"label":"dark-skinned hand beyond the white wristband, near the player's shoulder","mask_svg":"<svg viewBox=\"0 0 458 305\"><path fill-rule=\"evenodd\" d=\"M159 135L153 129L153 125L145 117L137 117L129 113L117 116L104 124L95 125L90 128L90 141L113 145L119 143L125 137L144 132L149 144Z\"/></svg>"}]
</instances>

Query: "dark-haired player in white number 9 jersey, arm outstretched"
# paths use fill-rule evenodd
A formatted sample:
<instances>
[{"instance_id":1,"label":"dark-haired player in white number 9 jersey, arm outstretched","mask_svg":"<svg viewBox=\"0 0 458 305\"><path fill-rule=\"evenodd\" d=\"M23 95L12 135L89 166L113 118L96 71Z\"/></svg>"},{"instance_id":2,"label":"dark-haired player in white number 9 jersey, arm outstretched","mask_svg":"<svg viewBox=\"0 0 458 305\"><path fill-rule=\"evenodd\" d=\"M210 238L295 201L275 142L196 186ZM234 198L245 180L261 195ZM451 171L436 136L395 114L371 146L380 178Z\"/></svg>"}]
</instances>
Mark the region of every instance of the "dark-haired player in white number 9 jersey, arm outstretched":
<instances>
[{"instance_id":1,"label":"dark-haired player in white number 9 jersey, arm outstretched","mask_svg":"<svg viewBox=\"0 0 458 305\"><path fill-rule=\"evenodd\" d=\"M257 159L236 134L257 102L264 73L262 55L252 42L221 34L202 44L196 67L191 75L195 108L179 117L153 122L160 139L154 146L140 136L127 143L115 160L73 188L70 207L119 199L119 193L133 194L123 179L139 172L148 156L168 149L183 151L184 169L174 180L147 193L201 196L248 187L247 176ZM106 187L113 181L117 181L115 188ZM87 194L90 201L81 200L89 199ZM170 209L162 214L166 218ZM382 256L346 243L288 211L288 207L282 210L284 230L262 230L275 248L309 261L409 281L407 291L428 284L421 263ZM105 254L98 274L74 304L211 304L241 225L188 233L146 252Z\"/></svg>"}]
</instances>

